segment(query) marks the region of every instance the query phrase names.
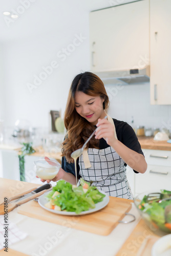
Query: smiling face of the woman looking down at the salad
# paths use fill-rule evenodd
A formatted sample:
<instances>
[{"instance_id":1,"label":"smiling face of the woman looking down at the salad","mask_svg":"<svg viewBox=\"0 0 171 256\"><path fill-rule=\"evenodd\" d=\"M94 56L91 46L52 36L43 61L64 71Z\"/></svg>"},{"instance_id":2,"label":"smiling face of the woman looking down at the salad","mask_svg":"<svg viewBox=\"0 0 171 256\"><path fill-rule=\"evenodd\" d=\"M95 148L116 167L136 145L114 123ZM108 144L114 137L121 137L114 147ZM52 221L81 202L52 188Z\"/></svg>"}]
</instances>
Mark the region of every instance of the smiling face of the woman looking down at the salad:
<instances>
[{"instance_id":1,"label":"smiling face of the woman looking down at the salad","mask_svg":"<svg viewBox=\"0 0 171 256\"><path fill-rule=\"evenodd\" d=\"M83 92L75 93L75 110L93 125L96 125L98 118L104 118L103 101L100 96L90 96Z\"/></svg>"}]
</instances>

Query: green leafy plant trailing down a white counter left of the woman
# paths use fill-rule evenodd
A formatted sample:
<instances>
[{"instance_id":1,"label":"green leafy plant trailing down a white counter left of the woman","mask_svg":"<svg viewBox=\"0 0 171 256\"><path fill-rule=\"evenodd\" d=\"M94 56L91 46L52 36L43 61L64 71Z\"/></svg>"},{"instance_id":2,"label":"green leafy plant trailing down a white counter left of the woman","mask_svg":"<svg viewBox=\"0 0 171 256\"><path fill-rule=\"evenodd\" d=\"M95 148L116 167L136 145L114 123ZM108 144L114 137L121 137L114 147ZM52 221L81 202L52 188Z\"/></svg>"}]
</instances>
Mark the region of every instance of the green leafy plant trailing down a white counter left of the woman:
<instances>
[{"instance_id":1,"label":"green leafy plant trailing down a white counter left of the woman","mask_svg":"<svg viewBox=\"0 0 171 256\"><path fill-rule=\"evenodd\" d=\"M25 181L25 156L31 155L35 152L34 148L32 147L32 142L29 143L21 143L23 147L19 151L19 175L20 180Z\"/></svg>"}]
</instances>

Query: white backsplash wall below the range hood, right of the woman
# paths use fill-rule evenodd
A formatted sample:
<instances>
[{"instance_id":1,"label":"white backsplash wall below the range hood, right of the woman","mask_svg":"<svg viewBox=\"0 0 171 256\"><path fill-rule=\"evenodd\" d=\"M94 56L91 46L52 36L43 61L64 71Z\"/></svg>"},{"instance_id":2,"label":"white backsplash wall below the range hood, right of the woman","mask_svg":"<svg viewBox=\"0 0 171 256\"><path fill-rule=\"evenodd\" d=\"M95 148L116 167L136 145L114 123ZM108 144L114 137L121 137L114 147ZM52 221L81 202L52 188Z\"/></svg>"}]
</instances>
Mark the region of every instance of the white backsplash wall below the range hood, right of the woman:
<instances>
[{"instance_id":1,"label":"white backsplash wall below the range hood, right of the woman","mask_svg":"<svg viewBox=\"0 0 171 256\"><path fill-rule=\"evenodd\" d=\"M105 86L110 98L109 115L132 126L143 125L171 132L171 105L151 105L149 83ZM134 120L134 123L132 123Z\"/></svg>"}]
</instances>

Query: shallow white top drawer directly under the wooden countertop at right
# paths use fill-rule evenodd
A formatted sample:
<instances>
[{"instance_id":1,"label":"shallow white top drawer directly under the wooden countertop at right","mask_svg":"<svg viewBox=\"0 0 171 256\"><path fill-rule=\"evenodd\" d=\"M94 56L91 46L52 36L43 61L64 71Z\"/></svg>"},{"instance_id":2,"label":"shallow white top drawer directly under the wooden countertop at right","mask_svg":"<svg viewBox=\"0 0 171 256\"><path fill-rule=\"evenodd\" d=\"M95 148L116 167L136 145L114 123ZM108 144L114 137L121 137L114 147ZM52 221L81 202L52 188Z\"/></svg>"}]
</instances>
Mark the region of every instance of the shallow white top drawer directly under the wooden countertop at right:
<instances>
[{"instance_id":1,"label":"shallow white top drawer directly under the wooden countertop at right","mask_svg":"<svg viewBox=\"0 0 171 256\"><path fill-rule=\"evenodd\" d=\"M147 164L171 166L171 151L143 150Z\"/></svg>"}]
</instances>

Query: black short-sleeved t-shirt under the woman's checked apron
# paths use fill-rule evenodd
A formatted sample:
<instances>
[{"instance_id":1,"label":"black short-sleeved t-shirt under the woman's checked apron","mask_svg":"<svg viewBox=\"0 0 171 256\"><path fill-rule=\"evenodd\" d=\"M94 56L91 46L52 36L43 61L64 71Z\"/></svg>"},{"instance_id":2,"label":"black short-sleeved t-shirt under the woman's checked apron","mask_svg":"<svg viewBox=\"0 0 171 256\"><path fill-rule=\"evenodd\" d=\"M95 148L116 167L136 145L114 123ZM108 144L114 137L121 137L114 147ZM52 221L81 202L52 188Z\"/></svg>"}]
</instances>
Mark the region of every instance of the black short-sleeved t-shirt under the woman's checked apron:
<instances>
[{"instance_id":1,"label":"black short-sleeved t-shirt under the woman's checked apron","mask_svg":"<svg viewBox=\"0 0 171 256\"><path fill-rule=\"evenodd\" d=\"M133 130L133 128L126 122L119 121L117 119L114 119L115 129L116 129L116 135L120 142L122 142L125 146L129 147L131 150L142 154L143 152L141 150L140 143L137 139L137 136ZM109 147L110 145L107 144L107 142L101 138L99 141L99 149L103 150L106 147ZM77 177L79 177L79 164L77 159ZM124 163L126 166L127 164ZM61 167L64 169L67 173L71 173L75 176L75 166L74 163L68 163L65 157L62 157ZM135 173L136 170L134 170Z\"/></svg>"}]
</instances>

